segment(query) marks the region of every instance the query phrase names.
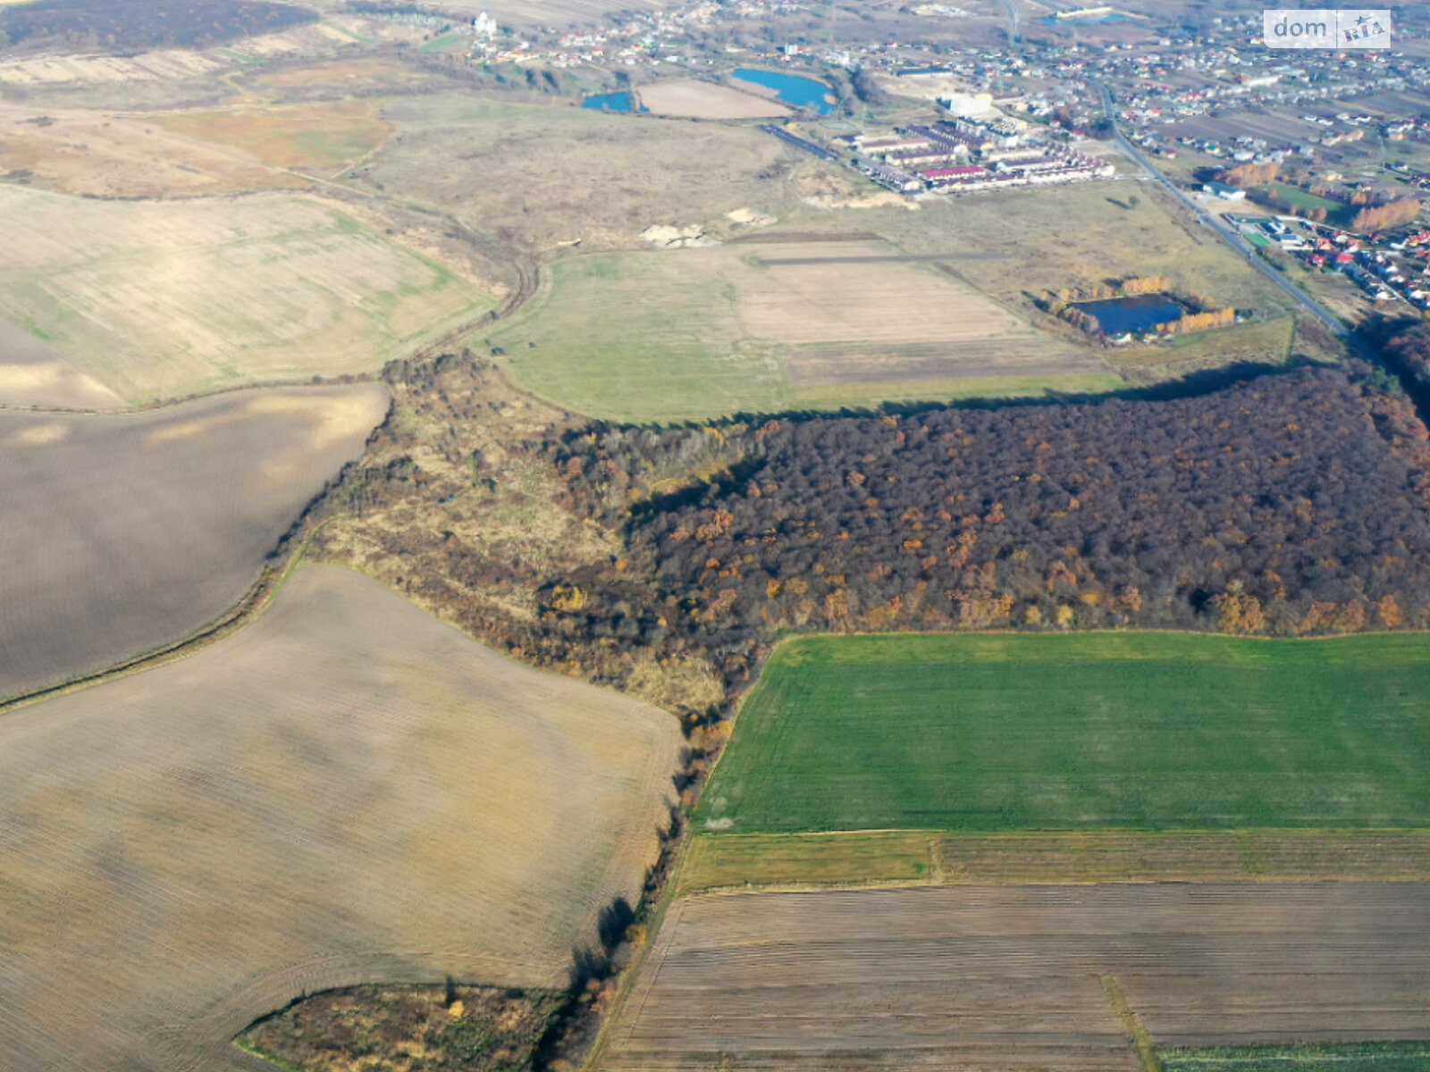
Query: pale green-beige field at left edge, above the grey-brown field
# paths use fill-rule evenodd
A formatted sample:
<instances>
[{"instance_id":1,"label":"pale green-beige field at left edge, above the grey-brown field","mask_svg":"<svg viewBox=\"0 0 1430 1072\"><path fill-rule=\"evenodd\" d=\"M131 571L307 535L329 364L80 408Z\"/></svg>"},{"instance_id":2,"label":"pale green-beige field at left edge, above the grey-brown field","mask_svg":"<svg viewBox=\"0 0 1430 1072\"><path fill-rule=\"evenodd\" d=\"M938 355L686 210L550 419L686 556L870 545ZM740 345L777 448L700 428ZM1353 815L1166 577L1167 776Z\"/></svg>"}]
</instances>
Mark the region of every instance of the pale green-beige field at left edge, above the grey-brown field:
<instances>
[{"instance_id":1,"label":"pale green-beige field at left edge, above the grey-brown field","mask_svg":"<svg viewBox=\"0 0 1430 1072\"><path fill-rule=\"evenodd\" d=\"M130 402L376 372L493 303L317 199L0 187L0 316Z\"/></svg>"}]
</instances>

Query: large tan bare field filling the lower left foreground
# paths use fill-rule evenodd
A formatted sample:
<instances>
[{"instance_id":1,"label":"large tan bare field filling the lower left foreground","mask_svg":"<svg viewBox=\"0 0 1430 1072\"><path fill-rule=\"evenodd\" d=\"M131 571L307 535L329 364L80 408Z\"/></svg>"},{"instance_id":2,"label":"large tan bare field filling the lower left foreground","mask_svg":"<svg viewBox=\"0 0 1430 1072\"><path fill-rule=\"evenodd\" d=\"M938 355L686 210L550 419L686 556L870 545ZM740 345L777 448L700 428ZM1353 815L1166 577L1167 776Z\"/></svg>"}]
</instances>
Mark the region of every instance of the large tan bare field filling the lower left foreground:
<instances>
[{"instance_id":1,"label":"large tan bare field filling the lower left foreground","mask_svg":"<svg viewBox=\"0 0 1430 1072\"><path fill-rule=\"evenodd\" d=\"M639 896L679 749L300 566L225 640L0 718L0 1069L256 1069L230 1039L303 993L561 988Z\"/></svg>"}]
</instances>

